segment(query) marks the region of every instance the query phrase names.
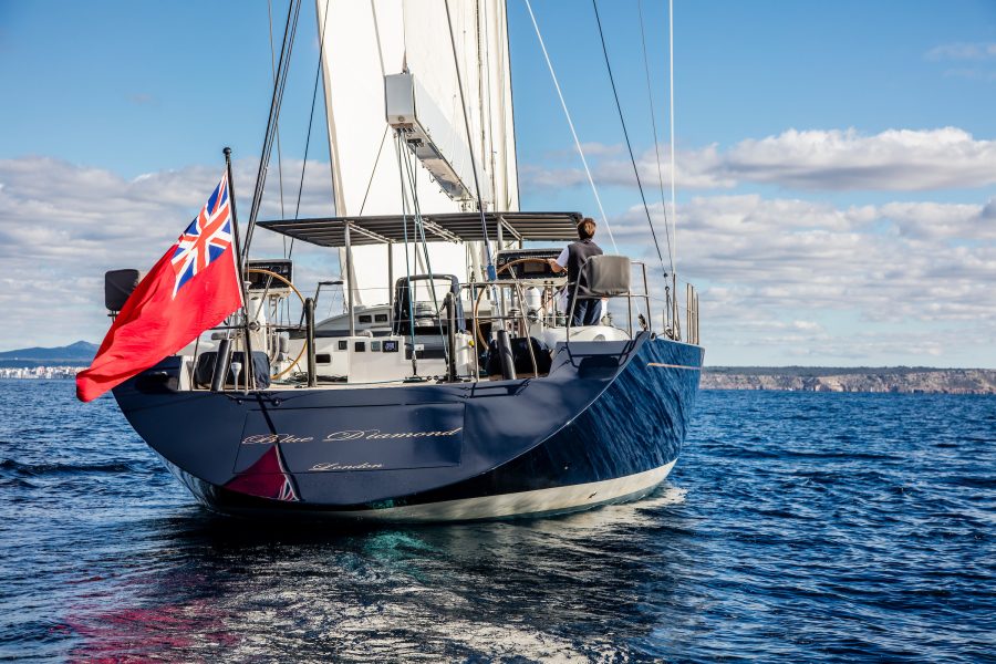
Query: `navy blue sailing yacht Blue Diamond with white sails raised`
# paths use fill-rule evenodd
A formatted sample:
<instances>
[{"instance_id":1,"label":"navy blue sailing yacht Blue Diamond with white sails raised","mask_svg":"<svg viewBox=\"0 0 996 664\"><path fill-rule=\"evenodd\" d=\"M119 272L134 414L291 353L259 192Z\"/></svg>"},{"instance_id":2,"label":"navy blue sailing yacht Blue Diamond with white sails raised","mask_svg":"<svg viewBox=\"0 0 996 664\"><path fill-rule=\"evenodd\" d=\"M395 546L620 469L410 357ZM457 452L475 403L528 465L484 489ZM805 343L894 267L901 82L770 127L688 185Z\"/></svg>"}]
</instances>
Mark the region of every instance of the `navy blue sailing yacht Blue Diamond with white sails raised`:
<instances>
[{"instance_id":1,"label":"navy blue sailing yacht Blue Diamond with white sails raised","mask_svg":"<svg viewBox=\"0 0 996 664\"><path fill-rule=\"evenodd\" d=\"M240 314L114 390L128 422L230 515L469 520L652 491L698 388L697 298L624 256L580 284L550 269L582 216L519 209L504 0L317 9L334 210L257 221L258 183L242 248L255 228L328 248L343 310L315 320L290 259L247 260ZM582 298L599 324L571 324Z\"/></svg>"}]
</instances>

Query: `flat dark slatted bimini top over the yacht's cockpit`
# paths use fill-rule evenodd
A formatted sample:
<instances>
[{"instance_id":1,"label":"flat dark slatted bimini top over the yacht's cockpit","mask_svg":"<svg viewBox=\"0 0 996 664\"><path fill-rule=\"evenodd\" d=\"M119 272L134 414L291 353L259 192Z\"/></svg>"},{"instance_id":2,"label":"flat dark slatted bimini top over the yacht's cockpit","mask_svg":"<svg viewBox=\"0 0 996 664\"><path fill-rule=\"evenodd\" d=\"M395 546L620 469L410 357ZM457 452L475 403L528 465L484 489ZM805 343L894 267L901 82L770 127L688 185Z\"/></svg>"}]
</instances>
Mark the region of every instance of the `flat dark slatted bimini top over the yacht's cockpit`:
<instances>
[{"instance_id":1,"label":"flat dark slatted bimini top over the yacht's cockpit","mask_svg":"<svg viewBox=\"0 0 996 664\"><path fill-rule=\"evenodd\" d=\"M578 239L580 212L485 212L488 239L498 239L498 225L508 240L564 242ZM484 240L480 212L423 215L428 242L470 242ZM345 226L350 225L350 245L382 245L415 240L413 216L326 217L324 219L274 219L259 221L262 228L320 247L345 247Z\"/></svg>"}]
</instances>

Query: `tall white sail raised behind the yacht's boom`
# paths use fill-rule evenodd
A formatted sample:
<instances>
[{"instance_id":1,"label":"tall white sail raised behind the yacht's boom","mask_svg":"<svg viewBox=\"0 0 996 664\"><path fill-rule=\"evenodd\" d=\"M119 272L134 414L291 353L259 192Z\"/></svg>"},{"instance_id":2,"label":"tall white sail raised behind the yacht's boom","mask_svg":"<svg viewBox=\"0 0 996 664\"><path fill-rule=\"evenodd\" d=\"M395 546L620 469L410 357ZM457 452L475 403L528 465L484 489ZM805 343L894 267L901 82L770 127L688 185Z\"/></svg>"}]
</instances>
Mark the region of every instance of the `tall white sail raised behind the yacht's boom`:
<instances>
[{"instance_id":1,"label":"tall white sail raised behind the yacht's boom","mask_svg":"<svg viewBox=\"0 0 996 664\"><path fill-rule=\"evenodd\" d=\"M452 0L453 34L470 139L464 124L457 66L454 62L447 6L429 0L317 0L318 27L323 32L322 58L329 116L336 214L396 215L403 211L398 155L385 117L384 76L407 69L428 93L466 148L439 146L453 155L473 151L480 195L487 209L517 210L509 77L508 33L504 0ZM471 174L469 164L454 164ZM415 163L418 201L424 212L476 209L454 200ZM471 177L473 179L473 177ZM475 191L474 183L465 183ZM475 204L476 205L476 201ZM435 272L468 278L467 249L458 245L430 246ZM422 251L419 250L421 255ZM409 247L413 273L427 267ZM356 247L353 274L345 276L354 301L387 301L387 249ZM395 278L405 273L404 249L394 248ZM352 278L350 278L352 277ZM477 276L480 278L480 274Z\"/></svg>"}]
</instances>

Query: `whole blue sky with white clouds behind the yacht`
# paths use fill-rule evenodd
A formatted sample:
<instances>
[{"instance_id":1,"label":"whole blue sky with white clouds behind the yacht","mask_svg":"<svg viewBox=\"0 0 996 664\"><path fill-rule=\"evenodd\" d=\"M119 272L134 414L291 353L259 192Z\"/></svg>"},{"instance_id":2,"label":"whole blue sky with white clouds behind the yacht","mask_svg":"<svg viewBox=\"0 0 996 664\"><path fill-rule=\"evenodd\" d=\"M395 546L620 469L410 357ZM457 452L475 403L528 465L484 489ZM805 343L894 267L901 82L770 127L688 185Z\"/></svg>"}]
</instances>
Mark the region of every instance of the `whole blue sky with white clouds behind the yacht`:
<instances>
[{"instance_id":1,"label":"whole blue sky with white clouds behind the yacht","mask_svg":"<svg viewBox=\"0 0 996 664\"><path fill-rule=\"evenodd\" d=\"M612 228L645 255L591 4L533 9ZM666 154L666 4L642 9ZM660 222L637 3L600 10ZM312 13L288 164L303 156ZM508 14L523 207L594 212L525 2ZM677 0L675 40L678 264L702 290L707 361L996 367L996 3ZM262 1L0 0L0 259L14 267L0 307L38 330L6 326L0 350L98 341L104 269L162 255L225 145L245 198L269 68ZM310 157L326 163L320 136Z\"/></svg>"}]
</instances>

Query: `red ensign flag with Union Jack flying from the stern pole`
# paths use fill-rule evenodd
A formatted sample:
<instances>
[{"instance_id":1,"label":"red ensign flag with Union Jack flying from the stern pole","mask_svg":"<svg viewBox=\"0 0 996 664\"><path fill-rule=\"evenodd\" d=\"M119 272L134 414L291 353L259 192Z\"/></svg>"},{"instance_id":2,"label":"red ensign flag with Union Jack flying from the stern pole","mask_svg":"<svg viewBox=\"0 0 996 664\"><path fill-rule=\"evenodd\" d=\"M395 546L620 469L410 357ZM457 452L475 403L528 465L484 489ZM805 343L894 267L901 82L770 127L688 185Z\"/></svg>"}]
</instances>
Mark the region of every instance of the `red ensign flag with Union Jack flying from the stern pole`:
<instances>
[{"instance_id":1,"label":"red ensign flag with Union Jack flying from the stern pole","mask_svg":"<svg viewBox=\"0 0 996 664\"><path fill-rule=\"evenodd\" d=\"M114 320L76 396L92 401L176 353L242 307L228 176Z\"/></svg>"}]
</instances>

